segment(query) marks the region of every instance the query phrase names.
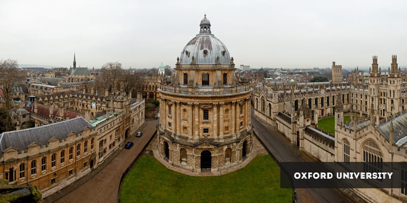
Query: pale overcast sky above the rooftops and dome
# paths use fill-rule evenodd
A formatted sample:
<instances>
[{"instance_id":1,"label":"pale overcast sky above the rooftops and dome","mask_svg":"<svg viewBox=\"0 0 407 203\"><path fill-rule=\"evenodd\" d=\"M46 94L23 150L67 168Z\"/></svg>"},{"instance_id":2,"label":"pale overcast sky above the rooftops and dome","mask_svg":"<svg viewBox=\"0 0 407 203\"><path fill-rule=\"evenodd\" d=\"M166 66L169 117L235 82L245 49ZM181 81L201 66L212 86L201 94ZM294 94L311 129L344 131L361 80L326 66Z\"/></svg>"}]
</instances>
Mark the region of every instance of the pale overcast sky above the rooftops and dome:
<instances>
[{"instance_id":1,"label":"pale overcast sky above the rooftops and dome","mask_svg":"<svg viewBox=\"0 0 407 203\"><path fill-rule=\"evenodd\" d=\"M175 66L203 14L237 65L407 65L405 1L0 0L0 59L95 68Z\"/></svg>"}]
</instances>

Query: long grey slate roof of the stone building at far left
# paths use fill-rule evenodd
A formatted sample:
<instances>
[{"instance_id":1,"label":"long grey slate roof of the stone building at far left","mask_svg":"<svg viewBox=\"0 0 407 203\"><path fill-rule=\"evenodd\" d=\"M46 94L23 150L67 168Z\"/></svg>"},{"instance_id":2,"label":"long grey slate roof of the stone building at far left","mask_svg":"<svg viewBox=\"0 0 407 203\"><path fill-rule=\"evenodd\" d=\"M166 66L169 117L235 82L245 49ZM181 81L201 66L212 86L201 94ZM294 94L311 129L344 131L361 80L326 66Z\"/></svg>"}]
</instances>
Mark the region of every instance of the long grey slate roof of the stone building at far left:
<instances>
[{"instance_id":1,"label":"long grey slate roof of the stone building at far left","mask_svg":"<svg viewBox=\"0 0 407 203\"><path fill-rule=\"evenodd\" d=\"M46 145L53 137L60 140L65 139L70 132L80 133L85 127L92 128L93 126L84 118L79 117L40 127L3 132L0 134L0 152L3 153L9 147L25 150L34 142Z\"/></svg>"}]
</instances>

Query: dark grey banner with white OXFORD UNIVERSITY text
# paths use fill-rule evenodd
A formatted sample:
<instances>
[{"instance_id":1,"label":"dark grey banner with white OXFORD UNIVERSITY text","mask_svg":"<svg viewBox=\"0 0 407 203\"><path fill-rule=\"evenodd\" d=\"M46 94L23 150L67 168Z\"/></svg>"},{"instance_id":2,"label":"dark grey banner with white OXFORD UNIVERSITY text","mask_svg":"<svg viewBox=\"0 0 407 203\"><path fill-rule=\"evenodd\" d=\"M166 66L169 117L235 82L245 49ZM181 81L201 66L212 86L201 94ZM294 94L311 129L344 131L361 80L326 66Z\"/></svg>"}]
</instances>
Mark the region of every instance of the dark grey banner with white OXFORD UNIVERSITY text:
<instances>
[{"instance_id":1,"label":"dark grey banner with white OXFORD UNIVERSITY text","mask_svg":"<svg viewBox=\"0 0 407 203\"><path fill-rule=\"evenodd\" d=\"M281 162L281 188L407 189L407 162Z\"/></svg>"}]
</instances>

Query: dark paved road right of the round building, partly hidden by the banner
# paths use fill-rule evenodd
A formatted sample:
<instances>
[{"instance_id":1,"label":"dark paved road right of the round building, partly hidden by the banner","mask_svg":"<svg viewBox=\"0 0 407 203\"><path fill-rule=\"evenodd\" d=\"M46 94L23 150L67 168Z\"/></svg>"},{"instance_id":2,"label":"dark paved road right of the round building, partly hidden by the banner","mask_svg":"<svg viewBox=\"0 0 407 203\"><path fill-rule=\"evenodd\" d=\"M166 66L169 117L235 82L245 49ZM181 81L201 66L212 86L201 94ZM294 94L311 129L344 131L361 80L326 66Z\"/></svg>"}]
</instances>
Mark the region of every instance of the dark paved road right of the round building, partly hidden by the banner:
<instances>
[{"instance_id":1,"label":"dark paved road right of the round building, partly hidden by the banner","mask_svg":"<svg viewBox=\"0 0 407 203\"><path fill-rule=\"evenodd\" d=\"M307 154L300 152L296 145L291 145L287 138L280 132L271 128L254 116L252 109L251 122L258 132L257 136L265 143L266 147L273 152L281 161L315 161ZM297 194L301 202L350 202L335 189L298 189Z\"/></svg>"}]
</instances>

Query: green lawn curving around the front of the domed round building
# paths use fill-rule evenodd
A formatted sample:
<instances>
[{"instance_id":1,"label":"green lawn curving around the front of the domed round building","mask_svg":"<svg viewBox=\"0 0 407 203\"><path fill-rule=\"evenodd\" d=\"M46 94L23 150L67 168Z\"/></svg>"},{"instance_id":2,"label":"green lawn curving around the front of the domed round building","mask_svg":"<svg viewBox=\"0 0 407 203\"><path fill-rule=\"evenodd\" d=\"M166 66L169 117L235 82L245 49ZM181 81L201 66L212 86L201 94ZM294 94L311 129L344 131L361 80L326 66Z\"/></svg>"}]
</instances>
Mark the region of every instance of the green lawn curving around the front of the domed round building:
<instances>
[{"instance_id":1,"label":"green lawn curving around the front of the domed round building","mask_svg":"<svg viewBox=\"0 0 407 203\"><path fill-rule=\"evenodd\" d=\"M187 176L141 156L120 193L122 202L292 202L292 197L292 189L280 189L280 168L270 155L213 177Z\"/></svg>"}]
</instances>

